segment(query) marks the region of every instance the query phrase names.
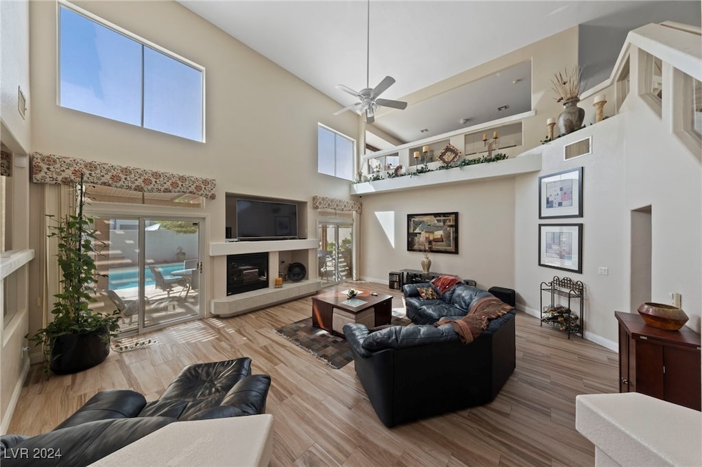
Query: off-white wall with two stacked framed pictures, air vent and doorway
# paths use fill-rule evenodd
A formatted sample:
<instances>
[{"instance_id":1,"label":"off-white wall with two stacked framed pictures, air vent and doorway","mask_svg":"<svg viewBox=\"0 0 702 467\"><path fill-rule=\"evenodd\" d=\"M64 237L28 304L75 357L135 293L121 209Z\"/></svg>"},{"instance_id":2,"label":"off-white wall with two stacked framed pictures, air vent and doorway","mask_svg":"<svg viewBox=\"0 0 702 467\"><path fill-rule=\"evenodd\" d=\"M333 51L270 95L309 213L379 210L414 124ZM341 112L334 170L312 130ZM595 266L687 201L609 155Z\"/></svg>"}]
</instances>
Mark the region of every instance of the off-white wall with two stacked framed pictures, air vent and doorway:
<instances>
[{"instance_id":1,"label":"off-white wall with two stacked framed pictures, air vent and doorway","mask_svg":"<svg viewBox=\"0 0 702 467\"><path fill-rule=\"evenodd\" d=\"M563 161L563 145L592 136L592 154ZM628 98L621 114L546 144L543 170L516 183L515 289L517 302L538 315L539 284L567 276L585 284L585 332L616 350L614 311L636 313L631 303L632 211L651 206L651 296L668 303L682 294L687 325L700 332L702 283L701 170L694 154L665 130L642 100ZM538 219L538 177L583 167L583 217ZM537 266L538 224L583 226L583 273ZM636 263L636 262L634 262ZM602 276L598 267L609 275ZM640 292L636 292L637 294ZM546 299L546 297L545 297ZM548 303L548 302L547 302Z\"/></svg>"}]
</instances>

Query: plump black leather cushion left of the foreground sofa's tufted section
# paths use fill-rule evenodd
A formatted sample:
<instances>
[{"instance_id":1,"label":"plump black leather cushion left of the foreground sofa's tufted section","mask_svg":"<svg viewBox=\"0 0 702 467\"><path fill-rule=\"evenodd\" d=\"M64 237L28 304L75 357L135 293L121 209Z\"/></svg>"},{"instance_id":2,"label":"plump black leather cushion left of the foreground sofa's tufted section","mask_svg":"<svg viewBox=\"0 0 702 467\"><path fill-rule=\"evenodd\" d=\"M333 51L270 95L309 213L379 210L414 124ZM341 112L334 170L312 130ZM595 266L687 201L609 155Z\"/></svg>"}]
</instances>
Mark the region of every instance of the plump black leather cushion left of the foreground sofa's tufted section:
<instances>
[{"instance_id":1,"label":"plump black leather cushion left of the foreground sofa's tufted section","mask_svg":"<svg viewBox=\"0 0 702 467\"><path fill-rule=\"evenodd\" d=\"M58 428L76 426L86 421L136 417L146 405L146 398L128 389L107 389L93 395L83 407L62 421Z\"/></svg>"}]
</instances>

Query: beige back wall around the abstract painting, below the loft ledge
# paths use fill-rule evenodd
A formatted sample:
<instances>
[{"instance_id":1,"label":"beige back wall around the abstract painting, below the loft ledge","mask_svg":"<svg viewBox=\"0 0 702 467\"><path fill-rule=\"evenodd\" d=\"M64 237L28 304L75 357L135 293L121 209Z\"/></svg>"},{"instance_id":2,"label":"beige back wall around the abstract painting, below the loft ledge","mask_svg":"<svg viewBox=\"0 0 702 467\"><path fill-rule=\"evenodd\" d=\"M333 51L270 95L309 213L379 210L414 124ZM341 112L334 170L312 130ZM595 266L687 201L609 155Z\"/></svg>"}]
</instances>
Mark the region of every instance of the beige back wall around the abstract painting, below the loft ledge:
<instances>
[{"instance_id":1,"label":"beige back wall around the abstract painting, below the loft ledge","mask_svg":"<svg viewBox=\"0 0 702 467\"><path fill-rule=\"evenodd\" d=\"M388 273L421 269L407 251L407 215L458 212L458 255L430 254L431 271L475 279L479 286L514 284L514 179L468 182L364 196L361 276L388 283Z\"/></svg>"}]
</instances>

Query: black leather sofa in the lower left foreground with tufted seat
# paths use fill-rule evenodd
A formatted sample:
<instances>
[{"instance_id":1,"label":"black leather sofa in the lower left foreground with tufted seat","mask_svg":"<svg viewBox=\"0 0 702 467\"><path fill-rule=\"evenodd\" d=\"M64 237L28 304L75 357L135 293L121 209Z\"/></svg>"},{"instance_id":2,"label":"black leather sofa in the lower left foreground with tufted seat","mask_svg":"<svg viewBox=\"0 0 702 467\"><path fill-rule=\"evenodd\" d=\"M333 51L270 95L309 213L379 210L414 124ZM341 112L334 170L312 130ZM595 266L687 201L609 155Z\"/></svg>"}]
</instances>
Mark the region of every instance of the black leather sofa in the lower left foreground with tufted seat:
<instances>
[{"instance_id":1,"label":"black leather sofa in the lower left foreground with tufted seat","mask_svg":"<svg viewBox=\"0 0 702 467\"><path fill-rule=\"evenodd\" d=\"M187 366L152 402L135 391L101 391L53 431L2 436L2 466L86 466L174 421L262 414L270 383L251 374L244 357Z\"/></svg>"}]
</instances>

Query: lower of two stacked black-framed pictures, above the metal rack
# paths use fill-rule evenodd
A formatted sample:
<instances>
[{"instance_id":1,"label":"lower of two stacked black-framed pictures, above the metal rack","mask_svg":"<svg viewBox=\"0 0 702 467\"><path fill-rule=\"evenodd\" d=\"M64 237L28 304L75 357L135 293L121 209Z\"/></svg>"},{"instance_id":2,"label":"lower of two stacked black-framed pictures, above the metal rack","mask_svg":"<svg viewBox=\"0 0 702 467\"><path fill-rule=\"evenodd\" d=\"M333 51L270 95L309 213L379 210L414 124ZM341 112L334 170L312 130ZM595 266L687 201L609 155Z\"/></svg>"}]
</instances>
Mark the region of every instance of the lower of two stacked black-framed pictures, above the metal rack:
<instances>
[{"instance_id":1,"label":"lower of two stacked black-framed pictures, above the metal rack","mask_svg":"<svg viewBox=\"0 0 702 467\"><path fill-rule=\"evenodd\" d=\"M583 272L583 224L538 224L538 265Z\"/></svg>"}]
</instances>

